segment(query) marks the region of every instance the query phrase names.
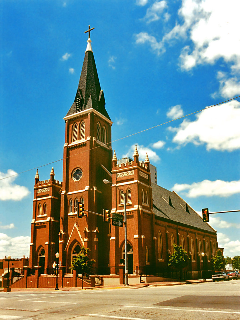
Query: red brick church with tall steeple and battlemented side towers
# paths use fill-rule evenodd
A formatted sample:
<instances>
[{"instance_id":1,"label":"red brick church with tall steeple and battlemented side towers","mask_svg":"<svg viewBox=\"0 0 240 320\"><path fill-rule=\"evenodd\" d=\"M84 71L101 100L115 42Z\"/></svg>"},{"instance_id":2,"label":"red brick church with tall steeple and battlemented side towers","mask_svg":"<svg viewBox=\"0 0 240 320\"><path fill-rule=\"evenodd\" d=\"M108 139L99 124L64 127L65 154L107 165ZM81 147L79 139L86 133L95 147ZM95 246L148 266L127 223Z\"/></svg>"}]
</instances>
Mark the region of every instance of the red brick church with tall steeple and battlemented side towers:
<instances>
[{"instance_id":1,"label":"red brick church with tall steeple and battlemented side towers","mask_svg":"<svg viewBox=\"0 0 240 320\"><path fill-rule=\"evenodd\" d=\"M38 171L35 176L29 267L51 268L59 252L61 265L70 268L84 246L101 274L109 274L110 267L117 270L124 258L124 228L90 212L77 218L76 203L84 203L91 212L103 214L103 209L109 209L111 214L124 215L120 189L127 198L130 274L143 266L166 270L173 243L189 253L186 270L193 277L204 268L211 270L218 249L216 231L174 191L151 181L148 155L140 161L136 147L133 159L122 163L113 153L113 122L105 109L90 37L76 96L64 120L62 182L55 180L53 168L48 180L41 181Z\"/></svg>"}]
</instances>

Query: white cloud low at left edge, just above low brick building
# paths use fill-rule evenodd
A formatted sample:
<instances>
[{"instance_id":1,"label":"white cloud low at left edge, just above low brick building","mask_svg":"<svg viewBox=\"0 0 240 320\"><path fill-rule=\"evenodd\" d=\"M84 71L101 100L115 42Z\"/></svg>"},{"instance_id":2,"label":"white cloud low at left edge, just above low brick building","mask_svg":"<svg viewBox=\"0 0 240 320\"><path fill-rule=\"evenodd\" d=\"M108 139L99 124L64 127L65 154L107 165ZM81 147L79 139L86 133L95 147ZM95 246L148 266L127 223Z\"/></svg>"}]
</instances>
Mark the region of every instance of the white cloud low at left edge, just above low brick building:
<instances>
[{"instance_id":1,"label":"white cloud low at left edge, just above low brick building","mask_svg":"<svg viewBox=\"0 0 240 320\"><path fill-rule=\"evenodd\" d=\"M30 237L10 237L0 233L0 259L10 255L12 258L21 258L23 255L29 257Z\"/></svg>"}]
</instances>

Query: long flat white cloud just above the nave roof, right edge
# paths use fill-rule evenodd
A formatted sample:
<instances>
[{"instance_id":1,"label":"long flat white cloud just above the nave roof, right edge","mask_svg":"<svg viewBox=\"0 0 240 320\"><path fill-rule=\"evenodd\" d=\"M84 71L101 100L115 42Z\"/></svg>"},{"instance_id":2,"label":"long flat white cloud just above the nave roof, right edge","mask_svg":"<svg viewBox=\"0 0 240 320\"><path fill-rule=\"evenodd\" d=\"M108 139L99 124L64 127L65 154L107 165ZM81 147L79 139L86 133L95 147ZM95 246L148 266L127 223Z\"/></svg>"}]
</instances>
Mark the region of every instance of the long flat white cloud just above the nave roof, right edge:
<instances>
[{"instance_id":1,"label":"long flat white cloud just above the nave roof, right edge","mask_svg":"<svg viewBox=\"0 0 240 320\"><path fill-rule=\"evenodd\" d=\"M221 196L228 197L240 192L240 180L222 181L222 180L204 180L190 184L176 183L172 189L176 192L188 190L185 196L196 198L198 196Z\"/></svg>"}]
</instances>

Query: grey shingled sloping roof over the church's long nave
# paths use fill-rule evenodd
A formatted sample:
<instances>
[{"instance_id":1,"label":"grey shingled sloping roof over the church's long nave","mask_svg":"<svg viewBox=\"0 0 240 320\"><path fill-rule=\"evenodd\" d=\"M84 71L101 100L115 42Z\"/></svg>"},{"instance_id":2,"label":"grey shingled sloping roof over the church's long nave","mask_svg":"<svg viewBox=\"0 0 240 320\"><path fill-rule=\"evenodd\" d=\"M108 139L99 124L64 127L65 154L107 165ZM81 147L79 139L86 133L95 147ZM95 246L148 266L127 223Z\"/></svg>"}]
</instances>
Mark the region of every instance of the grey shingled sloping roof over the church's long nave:
<instances>
[{"instance_id":1,"label":"grey shingled sloping roof over the church's long nave","mask_svg":"<svg viewBox=\"0 0 240 320\"><path fill-rule=\"evenodd\" d=\"M205 231L216 232L176 192L151 183L153 212L156 216ZM170 201L169 201L170 197ZM170 222L169 221L169 222Z\"/></svg>"}]
</instances>

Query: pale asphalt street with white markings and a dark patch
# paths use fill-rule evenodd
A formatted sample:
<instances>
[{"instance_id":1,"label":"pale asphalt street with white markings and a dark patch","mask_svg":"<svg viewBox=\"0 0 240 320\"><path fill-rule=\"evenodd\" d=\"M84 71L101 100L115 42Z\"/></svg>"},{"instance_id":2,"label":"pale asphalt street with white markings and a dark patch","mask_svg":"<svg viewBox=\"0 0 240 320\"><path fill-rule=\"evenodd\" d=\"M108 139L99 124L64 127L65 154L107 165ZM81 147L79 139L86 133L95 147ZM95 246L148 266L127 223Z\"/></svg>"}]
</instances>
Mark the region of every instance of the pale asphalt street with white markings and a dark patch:
<instances>
[{"instance_id":1,"label":"pale asphalt street with white markings and a dark patch","mask_svg":"<svg viewBox=\"0 0 240 320\"><path fill-rule=\"evenodd\" d=\"M0 292L1 320L240 319L240 280L145 288Z\"/></svg>"}]
</instances>

